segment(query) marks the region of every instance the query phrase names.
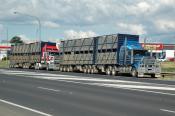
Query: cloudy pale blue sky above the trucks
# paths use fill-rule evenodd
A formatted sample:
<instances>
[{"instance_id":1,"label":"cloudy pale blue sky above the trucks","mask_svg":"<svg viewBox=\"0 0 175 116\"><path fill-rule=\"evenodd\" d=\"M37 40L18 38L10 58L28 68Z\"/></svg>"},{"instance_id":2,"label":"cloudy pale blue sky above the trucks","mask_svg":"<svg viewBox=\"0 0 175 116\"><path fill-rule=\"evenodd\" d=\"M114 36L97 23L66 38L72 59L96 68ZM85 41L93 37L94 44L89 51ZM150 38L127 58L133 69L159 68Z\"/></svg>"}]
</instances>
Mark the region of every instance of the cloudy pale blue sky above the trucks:
<instances>
[{"instance_id":1,"label":"cloudy pale blue sky above the trucks","mask_svg":"<svg viewBox=\"0 0 175 116\"><path fill-rule=\"evenodd\" d=\"M0 0L0 40L42 40L128 33L175 43L175 0ZM14 14L14 12L21 14ZM143 39L141 39L143 41Z\"/></svg>"}]
</instances>

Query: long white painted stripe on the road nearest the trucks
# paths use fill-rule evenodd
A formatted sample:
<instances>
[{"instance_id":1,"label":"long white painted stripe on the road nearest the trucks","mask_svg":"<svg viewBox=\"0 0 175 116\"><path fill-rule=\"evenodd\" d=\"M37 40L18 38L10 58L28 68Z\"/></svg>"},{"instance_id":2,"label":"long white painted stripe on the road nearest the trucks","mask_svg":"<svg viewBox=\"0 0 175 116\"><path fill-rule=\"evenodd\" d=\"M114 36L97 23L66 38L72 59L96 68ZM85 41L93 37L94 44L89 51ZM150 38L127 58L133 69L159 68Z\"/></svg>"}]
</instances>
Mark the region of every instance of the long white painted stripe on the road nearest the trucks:
<instances>
[{"instance_id":1,"label":"long white painted stripe on the road nearest the trucks","mask_svg":"<svg viewBox=\"0 0 175 116\"><path fill-rule=\"evenodd\" d=\"M157 84L157 83L147 83L147 82L134 82L134 81L126 81L126 80L109 80L109 79L102 79L102 78L93 78L93 77L84 77L82 78L81 76L71 76L71 75L61 75L61 74L50 74L50 73L39 73L39 72L28 72L28 71L7 71L7 70L0 70L2 73L7 72L7 74L19 74L22 76L38 76L40 79L50 79L50 80L56 80L56 79L69 79L69 80L77 80L77 81L92 81L92 82L111 82L111 83L129 83L129 84L141 84L143 85L154 85L154 86L166 86L167 87L173 87L173 85L167 85L167 84ZM8 73L10 72L10 73ZM15 73L14 73L15 72ZM47 77L46 77L47 76ZM33 78L35 78L33 77ZM165 89L166 89L165 88ZM155 88L157 89L157 88ZM158 88L159 89L159 88Z\"/></svg>"}]
</instances>

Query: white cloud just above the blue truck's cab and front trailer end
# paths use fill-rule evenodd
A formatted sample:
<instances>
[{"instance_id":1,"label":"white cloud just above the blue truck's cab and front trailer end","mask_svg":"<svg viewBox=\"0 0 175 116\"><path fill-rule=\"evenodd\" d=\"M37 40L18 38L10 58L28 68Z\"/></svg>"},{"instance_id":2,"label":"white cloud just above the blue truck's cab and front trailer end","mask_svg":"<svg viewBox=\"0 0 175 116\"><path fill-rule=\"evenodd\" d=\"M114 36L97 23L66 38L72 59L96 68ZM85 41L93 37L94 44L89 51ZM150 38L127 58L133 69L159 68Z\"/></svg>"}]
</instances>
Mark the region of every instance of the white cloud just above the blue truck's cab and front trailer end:
<instances>
[{"instance_id":1,"label":"white cloud just above the blue truck's cab and front trailer end","mask_svg":"<svg viewBox=\"0 0 175 116\"><path fill-rule=\"evenodd\" d=\"M126 24L119 23L117 24L121 30L124 30L126 33L130 34L146 34L147 32L144 30L143 25L141 24Z\"/></svg>"}]
</instances>

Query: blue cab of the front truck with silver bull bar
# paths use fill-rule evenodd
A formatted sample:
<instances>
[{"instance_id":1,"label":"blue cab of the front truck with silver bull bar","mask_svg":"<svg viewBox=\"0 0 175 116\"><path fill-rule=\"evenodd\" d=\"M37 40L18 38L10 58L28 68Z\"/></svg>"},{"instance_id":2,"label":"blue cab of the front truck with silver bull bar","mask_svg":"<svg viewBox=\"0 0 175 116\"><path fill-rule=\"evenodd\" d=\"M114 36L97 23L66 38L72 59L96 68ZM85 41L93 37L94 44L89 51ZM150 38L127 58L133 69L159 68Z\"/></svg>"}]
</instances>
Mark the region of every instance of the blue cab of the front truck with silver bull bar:
<instances>
[{"instance_id":1,"label":"blue cab of the front truck with silver bull bar","mask_svg":"<svg viewBox=\"0 0 175 116\"><path fill-rule=\"evenodd\" d=\"M127 71L134 77L145 75L160 77L161 75L160 63L154 57L150 57L149 52L144 50L138 41L127 41L127 38L120 47L119 65L127 68Z\"/></svg>"}]
</instances>

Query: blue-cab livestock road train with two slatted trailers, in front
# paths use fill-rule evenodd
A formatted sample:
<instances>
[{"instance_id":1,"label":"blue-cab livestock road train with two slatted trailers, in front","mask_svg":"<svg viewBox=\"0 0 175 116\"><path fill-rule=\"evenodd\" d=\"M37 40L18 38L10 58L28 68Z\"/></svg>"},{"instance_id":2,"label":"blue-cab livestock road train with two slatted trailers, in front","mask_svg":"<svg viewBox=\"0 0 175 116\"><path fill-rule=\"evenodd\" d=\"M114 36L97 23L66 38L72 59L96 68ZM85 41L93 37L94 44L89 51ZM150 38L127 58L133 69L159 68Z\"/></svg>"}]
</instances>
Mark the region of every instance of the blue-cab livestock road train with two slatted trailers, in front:
<instances>
[{"instance_id":1,"label":"blue-cab livestock road train with two slatted trailers, in front","mask_svg":"<svg viewBox=\"0 0 175 116\"><path fill-rule=\"evenodd\" d=\"M138 35L113 34L65 40L60 44L60 57L59 70L64 72L129 73L134 77L161 75L159 62L142 48Z\"/></svg>"}]
</instances>

